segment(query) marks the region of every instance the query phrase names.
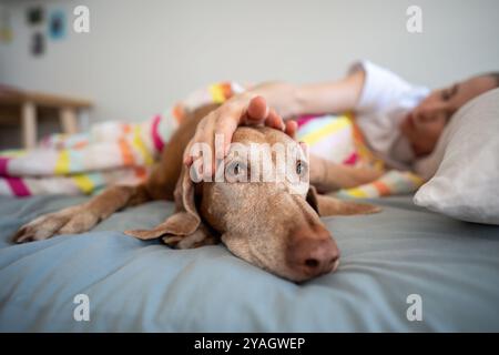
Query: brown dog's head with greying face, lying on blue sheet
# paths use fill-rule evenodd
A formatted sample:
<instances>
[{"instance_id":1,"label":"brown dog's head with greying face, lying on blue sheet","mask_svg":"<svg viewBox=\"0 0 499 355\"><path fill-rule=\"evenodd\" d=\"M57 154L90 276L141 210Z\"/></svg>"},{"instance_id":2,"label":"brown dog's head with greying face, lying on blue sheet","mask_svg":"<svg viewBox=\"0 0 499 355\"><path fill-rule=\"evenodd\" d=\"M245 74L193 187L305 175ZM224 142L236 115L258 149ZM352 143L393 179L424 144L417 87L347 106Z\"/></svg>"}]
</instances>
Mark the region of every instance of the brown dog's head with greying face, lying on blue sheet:
<instances>
[{"instance_id":1,"label":"brown dog's head with greying face, lying on blue sheet","mask_svg":"<svg viewBox=\"0 0 499 355\"><path fill-rule=\"evenodd\" d=\"M266 144L271 154L265 155L265 149L255 154L249 149L255 143ZM286 150L284 162L275 146ZM184 169L175 190L176 213L153 230L126 233L139 239L163 237L181 248L213 244L221 237L241 258L302 282L334 271L339 263L338 247L319 214L377 210L317 195L308 184L303 148L277 130L238 128L222 166L220 182L195 183Z\"/></svg>"}]
</instances>

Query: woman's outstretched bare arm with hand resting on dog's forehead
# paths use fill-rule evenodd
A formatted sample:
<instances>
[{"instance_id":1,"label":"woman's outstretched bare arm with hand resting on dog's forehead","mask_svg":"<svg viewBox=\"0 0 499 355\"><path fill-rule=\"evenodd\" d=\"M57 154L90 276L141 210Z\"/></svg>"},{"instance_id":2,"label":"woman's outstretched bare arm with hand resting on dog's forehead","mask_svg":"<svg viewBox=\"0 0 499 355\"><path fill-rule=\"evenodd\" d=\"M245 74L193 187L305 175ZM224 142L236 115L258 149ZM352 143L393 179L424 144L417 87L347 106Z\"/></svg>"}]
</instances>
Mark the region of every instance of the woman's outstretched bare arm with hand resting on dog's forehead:
<instances>
[{"instance_id":1,"label":"woman's outstretched bare arm with hand resting on dog's forehead","mask_svg":"<svg viewBox=\"0 0 499 355\"><path fill-rule=\"evenodd\" d=\"M285 131L294 136L296 123L284 123L301 114L339 113L353 110L364 85L364 71L356 71L347 78L332 83L294 85L289 83L263 83L237 94L201 120L196 132L184 152L184 163L191 165L194 143L210 144L215 152L215 135L223 136L223 159L237 126L243 124L265 124ZM212 158L213 168L215 156ZM212 170L212 172L214 169Z\"/></svg>"}]
</instances>

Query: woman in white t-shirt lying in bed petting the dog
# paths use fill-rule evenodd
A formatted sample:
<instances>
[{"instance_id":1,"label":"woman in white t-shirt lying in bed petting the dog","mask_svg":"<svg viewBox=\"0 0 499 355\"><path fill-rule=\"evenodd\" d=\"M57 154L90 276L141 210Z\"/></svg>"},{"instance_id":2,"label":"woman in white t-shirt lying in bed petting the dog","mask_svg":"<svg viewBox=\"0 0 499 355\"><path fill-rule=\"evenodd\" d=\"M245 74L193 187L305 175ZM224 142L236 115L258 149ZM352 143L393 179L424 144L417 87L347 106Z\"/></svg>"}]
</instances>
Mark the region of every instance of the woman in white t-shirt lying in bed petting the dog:
<instances>
[{"instance_id":1,"label":"woman in white t-shirt lying in bed petting the dog","mask_svg":"<svg viewBox=\"0 0 499 355\"><path fill-rule=\"evenodd\" d=\"M499 73L487 73L430 91L414 85L394 72L369 61L355 63L348 74L336 82L295 85L268 82L235 95L198 124L191 144L213 144L214 134L223 134L225 151L232 134L242 124L266 124L294 135L293 118L304 114L353 111L356 124L368 146L393 169L410 170L414 163L435 149L452 114L471 99L499 87ZM262 110L248 109L262 97ZM254 106L254 104L253 104ZM212 146L212 151L214 148ZM184 163L193 158L186 150ZM380 176L379 171L334 164L310 155L310 182L335 176L324 192L354 187ZM328 180L330 181L330 179Z\"/></svg>"}]
</instances>

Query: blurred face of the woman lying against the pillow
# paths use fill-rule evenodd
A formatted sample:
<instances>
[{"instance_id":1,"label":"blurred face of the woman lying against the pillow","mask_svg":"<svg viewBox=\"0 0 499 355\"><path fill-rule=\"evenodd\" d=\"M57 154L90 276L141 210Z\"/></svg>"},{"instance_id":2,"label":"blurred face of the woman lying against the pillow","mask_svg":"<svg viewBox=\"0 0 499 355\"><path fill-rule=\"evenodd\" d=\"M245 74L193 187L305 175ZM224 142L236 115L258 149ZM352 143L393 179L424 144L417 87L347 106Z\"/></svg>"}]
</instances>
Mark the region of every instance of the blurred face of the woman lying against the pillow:
<instances>
[{"instance_id":1,"label":"blurred face of the woman lying against the pillow","mask_svg":"<svg viewBox=\"0 0 499 355\"><path fill-rule=\"evenodd\" d=\"M491 77L477 77L432 91L400 124L416 156L431 153L450 116L465 103L497 87Z\"/></svg>"}]
</instances>

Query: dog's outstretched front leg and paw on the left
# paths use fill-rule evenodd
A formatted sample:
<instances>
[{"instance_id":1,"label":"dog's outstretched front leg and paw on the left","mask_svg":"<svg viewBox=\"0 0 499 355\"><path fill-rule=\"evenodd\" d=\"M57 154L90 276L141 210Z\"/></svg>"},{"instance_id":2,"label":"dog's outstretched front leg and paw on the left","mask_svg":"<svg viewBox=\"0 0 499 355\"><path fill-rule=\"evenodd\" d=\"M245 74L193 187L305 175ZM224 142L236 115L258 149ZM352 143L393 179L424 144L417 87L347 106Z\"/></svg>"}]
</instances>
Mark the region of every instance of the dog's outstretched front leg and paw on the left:
<instances>
[{"instance_id":1,"label":"dog's outstretched front leg and paw on the left","mask_svg":"<svg viewBox=\"0 0 499 355\"><path fill-rule=\"evenodd\" d=\"M110 186L90 201L42 215L24 224L13 236L16 243L41 241L55 234L86 232L100 221L125 206L151 200L144 185Z\"/></svg>"}]
</instances>

